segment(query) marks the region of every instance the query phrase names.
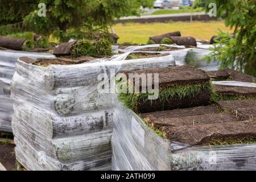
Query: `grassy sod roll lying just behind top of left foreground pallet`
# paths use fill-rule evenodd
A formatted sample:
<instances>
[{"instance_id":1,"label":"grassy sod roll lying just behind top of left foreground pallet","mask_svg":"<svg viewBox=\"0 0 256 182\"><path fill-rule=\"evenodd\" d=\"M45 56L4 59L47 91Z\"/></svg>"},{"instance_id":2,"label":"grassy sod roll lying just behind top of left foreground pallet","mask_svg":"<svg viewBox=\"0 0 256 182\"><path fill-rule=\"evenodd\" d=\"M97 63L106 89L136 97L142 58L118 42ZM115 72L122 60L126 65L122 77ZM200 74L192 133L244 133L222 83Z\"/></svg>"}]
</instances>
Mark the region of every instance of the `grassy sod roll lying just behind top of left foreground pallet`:
<instances>
[{"instance_id":1,"label":"grassy sod roll lying just behind top of left foreground pallet","mask_svg":"<svg viewBox=\"0 0 256 182\"><path fill-rule=\"evenodd\" d=\"M112 47L108 40L87 40L81 39L73 42L60 44L55 48L54 55L56 56L110 56L112 55Z\"/></svg>"}]
</instances>

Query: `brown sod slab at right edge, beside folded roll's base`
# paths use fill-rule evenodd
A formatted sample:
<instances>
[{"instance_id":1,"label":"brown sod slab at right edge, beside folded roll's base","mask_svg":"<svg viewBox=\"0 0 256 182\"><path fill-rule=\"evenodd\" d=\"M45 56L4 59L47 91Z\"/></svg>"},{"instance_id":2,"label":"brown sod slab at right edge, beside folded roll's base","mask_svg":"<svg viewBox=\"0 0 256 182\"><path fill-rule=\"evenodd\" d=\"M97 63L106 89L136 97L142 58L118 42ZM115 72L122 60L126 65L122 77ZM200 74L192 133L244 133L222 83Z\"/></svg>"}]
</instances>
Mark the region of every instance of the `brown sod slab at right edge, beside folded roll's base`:
<instances>
[{"instance_id":1,"label":"brown sod slab at right edge, beside folded roll's base","mask_svg":"<svg viewBox=\"0 0 256 182\"><path fill-rule=\"evenodd\" d=\"M222 111L237 110L238 108L256 107L255 100L238 100L238 101L218 101L216 106Z\"/></svg>"}]
</instances>

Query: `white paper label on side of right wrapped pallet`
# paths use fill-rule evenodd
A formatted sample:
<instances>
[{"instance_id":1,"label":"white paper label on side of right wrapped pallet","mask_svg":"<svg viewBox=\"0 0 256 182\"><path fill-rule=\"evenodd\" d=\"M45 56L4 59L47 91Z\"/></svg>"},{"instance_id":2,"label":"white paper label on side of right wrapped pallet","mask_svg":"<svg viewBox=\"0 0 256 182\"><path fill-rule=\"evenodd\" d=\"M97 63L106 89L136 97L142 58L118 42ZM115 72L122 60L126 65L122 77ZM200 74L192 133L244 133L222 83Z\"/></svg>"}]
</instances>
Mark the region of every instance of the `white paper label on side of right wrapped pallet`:
<instances>
[{"instance_id":1,"label":"white paper label on side of right wrapped pallet","mask_svg":"<svg viewBox=\"0 0 256 182\"><path fill-rule=\"evenodd\" d=\"M139 123L136 121L134 117L131 118L131 133L139 141L139 143L141 143L141 145L144 147L145 131L142 128L142 126L139 125Z\"/></svg>"}]
</instances>

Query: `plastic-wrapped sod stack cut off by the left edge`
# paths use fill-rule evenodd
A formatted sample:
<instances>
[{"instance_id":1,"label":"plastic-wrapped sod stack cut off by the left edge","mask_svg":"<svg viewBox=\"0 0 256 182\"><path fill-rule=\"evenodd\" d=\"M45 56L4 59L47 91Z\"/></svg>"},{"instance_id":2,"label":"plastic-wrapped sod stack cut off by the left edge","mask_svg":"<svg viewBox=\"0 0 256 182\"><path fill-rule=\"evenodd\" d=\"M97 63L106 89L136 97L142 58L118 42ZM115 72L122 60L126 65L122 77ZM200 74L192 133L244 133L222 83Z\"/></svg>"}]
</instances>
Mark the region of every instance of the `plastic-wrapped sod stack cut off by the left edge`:
<instances>
[{"instance_id":1,"label":"plastic-wrapped sod stack cut off by the left edge","mask_svg":"<svg viewBox=\"0 0 256 182\"><path fill-rule=\"evenodd\" d=\"M0 132L11 133L13 102L10 99L10 83L15 70L15 61L20 56L54 57L49 53L0 51Z\"/></svg>"}]
</instances>

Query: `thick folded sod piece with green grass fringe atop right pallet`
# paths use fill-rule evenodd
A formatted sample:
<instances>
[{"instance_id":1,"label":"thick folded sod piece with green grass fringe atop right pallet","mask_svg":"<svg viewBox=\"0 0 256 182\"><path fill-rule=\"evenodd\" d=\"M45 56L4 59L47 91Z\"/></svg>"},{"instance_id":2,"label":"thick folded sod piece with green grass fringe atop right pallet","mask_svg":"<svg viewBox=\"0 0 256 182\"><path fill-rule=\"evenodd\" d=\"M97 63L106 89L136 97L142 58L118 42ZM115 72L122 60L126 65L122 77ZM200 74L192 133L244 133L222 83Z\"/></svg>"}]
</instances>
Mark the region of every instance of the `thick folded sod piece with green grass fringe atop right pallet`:
<instances>
[{"instance_id":1,"label":"thick folded sod piece with green grass fringe atop right pallet","mask_svg":"<svg viewBox=\"0 0 256 182\"><path fill-rule=\"evenodd\" d=\"M150 78L147 76L150 73L152 75L158 74L159 89L155 82L156 75L151 80L148 80ZM212 86L209 76L204 71L194 69L188 65L144 69L141 71L125 72L124 74L128 78L128 83L118 77L116 82L120 84L119 88L122 90L123 85L127 84L127 90L131 89L133 93L119 92L118 100L137 113L208 105L210 102ZM147 83L140 81L139 90L136 90L134 85L138 84L138 79L142 76L141 74L146 75L147 82L152 81L152 88L154 88L153 94L159 91L155 100L150 100L150 97L148 97L152 96L152 92L150 93L148 90L144 93L141 92L142 88L146 88Z\"/></svg>"}]
</instances>

